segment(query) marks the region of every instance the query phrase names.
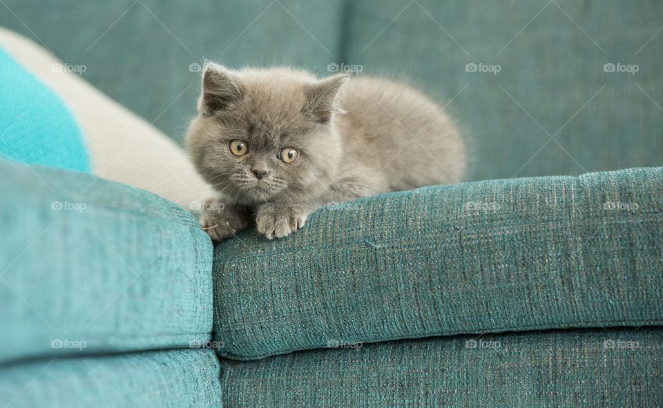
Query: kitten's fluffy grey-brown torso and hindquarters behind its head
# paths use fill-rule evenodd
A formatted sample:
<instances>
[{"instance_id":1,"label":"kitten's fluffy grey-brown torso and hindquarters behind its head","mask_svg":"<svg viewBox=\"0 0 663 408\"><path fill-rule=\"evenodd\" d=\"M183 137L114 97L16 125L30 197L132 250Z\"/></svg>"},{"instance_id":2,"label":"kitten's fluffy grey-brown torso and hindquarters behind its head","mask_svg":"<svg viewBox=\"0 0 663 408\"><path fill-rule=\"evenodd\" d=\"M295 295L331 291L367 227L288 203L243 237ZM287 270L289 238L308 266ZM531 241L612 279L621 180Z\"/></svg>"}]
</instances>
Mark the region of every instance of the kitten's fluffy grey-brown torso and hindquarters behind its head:
<instances>
[{"instance_id":1,"label":"kitten's fluffy grey-brown torso and hindquarters behind its head","mask_svg":"<svg viewBox=\"0 0 663 408\"><path fill-rule=\"evenodd\" d=\"M459 133L421 93L385 79L355 77L339 105L347 113L332 121L349 157L337 177L361 186L361 196L460 181L465 149Z\"/></svg>"}]
</instances>

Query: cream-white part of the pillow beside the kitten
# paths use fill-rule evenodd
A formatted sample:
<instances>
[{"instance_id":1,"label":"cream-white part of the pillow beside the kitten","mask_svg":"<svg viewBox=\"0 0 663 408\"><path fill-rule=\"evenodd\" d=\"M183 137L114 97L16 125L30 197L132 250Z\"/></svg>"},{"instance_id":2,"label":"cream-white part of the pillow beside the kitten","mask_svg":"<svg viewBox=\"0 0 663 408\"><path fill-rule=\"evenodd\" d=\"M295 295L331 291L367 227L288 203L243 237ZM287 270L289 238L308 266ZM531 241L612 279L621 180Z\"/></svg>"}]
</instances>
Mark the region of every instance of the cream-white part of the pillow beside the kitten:
<instances>
[{"instance_id":1,"label":"cream-white part of the pillow beside the kitten","mask_svg":"<svg viewBox=\"0 0 663 408\"><path fill-rule=\"evenodd\" d=\"M143 188L188 209L200 209L200 203L213 195L180 146L88 84L81 72L73 71L84 68L87 72L87 66L70 66L39 44L1 27L0 46L54 90L71 109L88 146L95 175ZM70 115L59 112L54 115L58 115L57 120L50 124L49 132L66 133L68 129L59 122L71 120ZM30 139L29 135L17 137ZM50 134L49 137L51 143L57 143L57 138Z\"/></svg>"}]
</instances>

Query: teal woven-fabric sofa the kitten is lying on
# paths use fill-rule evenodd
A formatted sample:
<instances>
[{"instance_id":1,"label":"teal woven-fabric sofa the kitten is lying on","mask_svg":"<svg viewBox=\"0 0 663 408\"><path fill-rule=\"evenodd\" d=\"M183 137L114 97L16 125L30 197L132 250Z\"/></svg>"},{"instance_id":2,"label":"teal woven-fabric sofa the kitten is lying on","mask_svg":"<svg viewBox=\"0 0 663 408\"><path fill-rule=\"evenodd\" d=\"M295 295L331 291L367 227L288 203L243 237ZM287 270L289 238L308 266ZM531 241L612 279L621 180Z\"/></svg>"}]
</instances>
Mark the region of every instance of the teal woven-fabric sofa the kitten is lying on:
<instances>
[{"instance_id":1,"label":"teal woven-fabric sofa the kitten is lying on","mask_svg":"<svg viewBox=\"0 0 663 408\"><path fill-rule=\"evenodd\" d=\"M0 159L0 407L663 405L663 4L69 3L0 26L178 142L202 57L347 64L426 90L472 163L214 247L163 197Z\"/></svg>"}]
</instances>

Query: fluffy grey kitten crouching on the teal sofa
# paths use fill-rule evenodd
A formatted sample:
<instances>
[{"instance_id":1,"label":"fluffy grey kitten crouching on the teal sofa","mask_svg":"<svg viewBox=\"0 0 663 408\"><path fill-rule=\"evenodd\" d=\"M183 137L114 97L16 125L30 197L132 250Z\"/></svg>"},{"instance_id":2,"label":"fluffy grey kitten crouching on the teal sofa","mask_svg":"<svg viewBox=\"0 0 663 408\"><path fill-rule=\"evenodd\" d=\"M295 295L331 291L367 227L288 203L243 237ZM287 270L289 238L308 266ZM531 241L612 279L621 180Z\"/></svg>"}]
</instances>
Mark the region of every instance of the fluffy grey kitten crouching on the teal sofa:
<instances>
[{"instance_id":1,"label":"fluffy grey kitten crouching on the teal sofa","mask_svg":"<svg viewBox=\"0 0 663 408\"><path fill-rule=\"evenodd\" d=\"M285 237L327 204L459 182L465 168L442 108L385 79L208 63L198 110L186 145L220 193L200 220L213 240L254 221Z\"/></svg>"}]
</instances>

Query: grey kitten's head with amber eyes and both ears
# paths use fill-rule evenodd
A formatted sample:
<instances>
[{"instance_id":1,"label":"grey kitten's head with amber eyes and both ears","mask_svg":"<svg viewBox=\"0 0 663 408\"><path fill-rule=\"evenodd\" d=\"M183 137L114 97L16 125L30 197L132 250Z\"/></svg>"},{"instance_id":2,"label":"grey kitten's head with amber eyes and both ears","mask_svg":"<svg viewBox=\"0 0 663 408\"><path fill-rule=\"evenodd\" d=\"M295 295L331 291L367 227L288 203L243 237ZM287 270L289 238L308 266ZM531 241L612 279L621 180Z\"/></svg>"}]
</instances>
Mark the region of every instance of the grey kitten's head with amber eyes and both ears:
<instances>
[{"instance_id":1,"label":"grey kitten's head with amber eyes and both ears","mask_svg":"<svg viewBox=\"0 0 663 408\"><path fill-rule=\"evenodd\" d=\"M342 146L332 117L347 75L206 64L186 145L202 176L240 204L326 188Z\"/></svg>"}]
</instances>

